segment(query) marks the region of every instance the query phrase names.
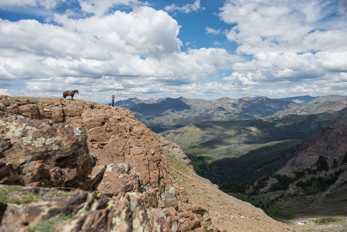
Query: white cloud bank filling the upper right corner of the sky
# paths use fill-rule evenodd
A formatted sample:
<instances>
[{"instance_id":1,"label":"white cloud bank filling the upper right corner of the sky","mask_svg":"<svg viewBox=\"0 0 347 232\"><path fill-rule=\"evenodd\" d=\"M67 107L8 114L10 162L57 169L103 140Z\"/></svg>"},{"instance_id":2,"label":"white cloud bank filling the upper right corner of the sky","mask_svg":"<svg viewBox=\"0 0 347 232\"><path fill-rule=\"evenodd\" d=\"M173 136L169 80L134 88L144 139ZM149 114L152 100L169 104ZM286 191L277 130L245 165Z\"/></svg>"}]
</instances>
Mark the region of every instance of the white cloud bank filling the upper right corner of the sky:
<instances>
[{"instance_id":1,"label":"white cloud bank filling the upper right corner of the sky","mask_svg":"<svg viewBox=\"0 0 347 232\"><path fill-rule=\"evenodd\" d=\"M220 18L231 25L226 37L237 43L237 54L251 59L232 64L234 73L224 80L245 86L314 83L346 73L347 27L339 23L337 6L342 8L336 1L226 3L220 12Z\"/></svg>"}]
</instances>

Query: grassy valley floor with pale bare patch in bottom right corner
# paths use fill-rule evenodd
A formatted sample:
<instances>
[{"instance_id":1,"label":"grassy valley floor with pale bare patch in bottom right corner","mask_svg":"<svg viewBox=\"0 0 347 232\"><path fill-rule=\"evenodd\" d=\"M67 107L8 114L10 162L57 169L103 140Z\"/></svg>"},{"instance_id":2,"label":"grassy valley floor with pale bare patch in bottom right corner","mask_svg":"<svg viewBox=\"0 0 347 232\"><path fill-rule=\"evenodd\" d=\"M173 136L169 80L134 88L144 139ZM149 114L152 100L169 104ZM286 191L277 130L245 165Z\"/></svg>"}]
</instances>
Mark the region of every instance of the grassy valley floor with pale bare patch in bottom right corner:
<instances>
[{"instance_id":1,"label":"grassy valley floor with pale bare patch in bottom right corner","mask_svg":"<svg viewBox=\"0 0 347 232\"><path fill-rule=\"evenodd\" d=\"M304 231L347 231L346 191L347 184L342 184L321 202L314 196L288 195L286 191L233 196L261 206L272 218Z\"/></svg>"}]
</instances>

